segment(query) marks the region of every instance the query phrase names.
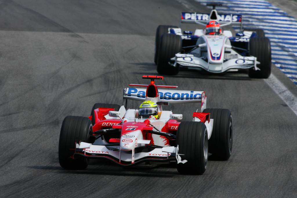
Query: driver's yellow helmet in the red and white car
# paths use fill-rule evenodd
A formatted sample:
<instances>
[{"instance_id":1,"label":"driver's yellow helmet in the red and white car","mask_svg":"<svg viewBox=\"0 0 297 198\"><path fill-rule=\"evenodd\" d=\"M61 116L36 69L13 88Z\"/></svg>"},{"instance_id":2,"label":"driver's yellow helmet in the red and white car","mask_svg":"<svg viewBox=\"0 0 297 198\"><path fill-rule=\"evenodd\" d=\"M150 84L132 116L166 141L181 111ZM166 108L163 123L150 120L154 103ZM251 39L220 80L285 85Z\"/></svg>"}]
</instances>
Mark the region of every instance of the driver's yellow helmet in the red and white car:
<instances>
[{"instance_id":1,"label":"driver's yellow helmet in the red and white car","mask_svg":"<svg viewBox=\"0 0 297 198\"><path fill-rule=\"evenodd\" d=\"M144 101L139 106L138 116L139 118L151 118L151 116L154 116L156 119L158 119L159 115L157 104L150 100Z\"/></svg>"}]
</instances>

